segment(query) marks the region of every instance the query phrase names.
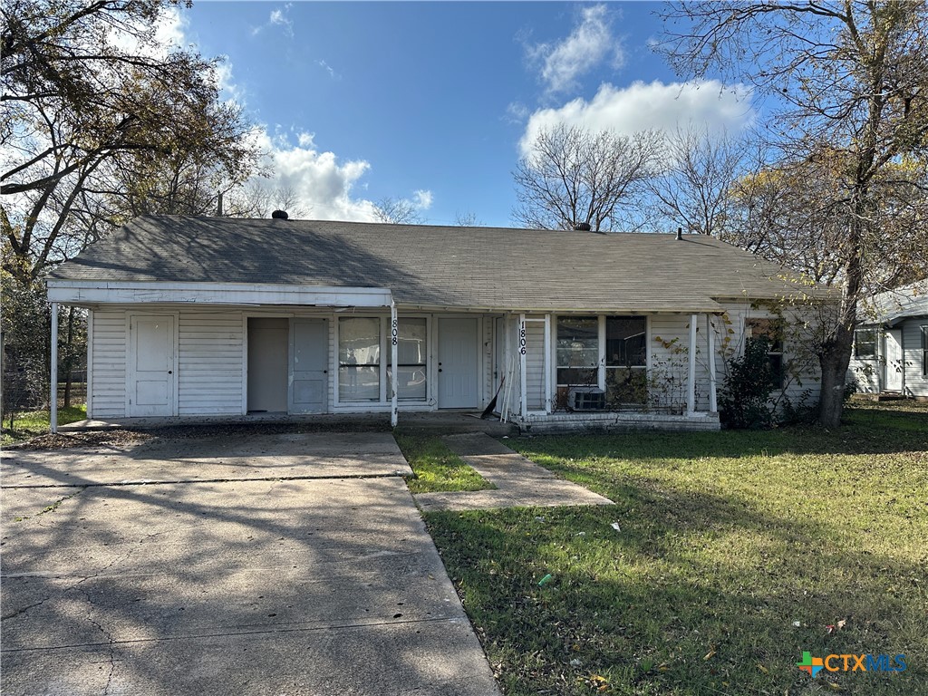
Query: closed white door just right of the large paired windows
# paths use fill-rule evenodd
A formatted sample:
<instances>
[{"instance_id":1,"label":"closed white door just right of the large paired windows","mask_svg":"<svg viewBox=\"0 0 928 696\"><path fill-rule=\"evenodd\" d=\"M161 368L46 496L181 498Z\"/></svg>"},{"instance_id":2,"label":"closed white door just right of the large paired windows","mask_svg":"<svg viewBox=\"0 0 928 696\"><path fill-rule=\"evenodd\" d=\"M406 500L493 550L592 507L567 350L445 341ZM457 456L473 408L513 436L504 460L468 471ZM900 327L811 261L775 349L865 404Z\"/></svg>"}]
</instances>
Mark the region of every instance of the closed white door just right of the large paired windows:
<instances>
[{"instance_id":1,"label":"closed white door just right of the large paired windows","mask_svg":"<svg viewBox=\"0 0 928 696\"><path fill-rule=\"evenodd\" d=\"M438 407L477 407L476 318L438 319Z\"/></svg>"}]
</instances>

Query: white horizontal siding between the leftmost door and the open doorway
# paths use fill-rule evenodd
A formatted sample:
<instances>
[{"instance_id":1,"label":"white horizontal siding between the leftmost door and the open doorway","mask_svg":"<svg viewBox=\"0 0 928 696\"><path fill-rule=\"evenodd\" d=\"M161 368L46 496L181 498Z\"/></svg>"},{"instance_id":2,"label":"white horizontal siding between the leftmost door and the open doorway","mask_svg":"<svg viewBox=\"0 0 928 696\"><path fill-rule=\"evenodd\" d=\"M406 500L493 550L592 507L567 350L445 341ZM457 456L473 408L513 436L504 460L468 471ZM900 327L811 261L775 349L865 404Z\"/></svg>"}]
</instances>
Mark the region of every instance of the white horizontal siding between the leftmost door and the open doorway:
<instances>
[{"instance_id":1,"label":"white horizontal siding between the leftmost door and the open doorway","mask_svg":"<svg viewBox=\"0 0 928 696\"><path fill-rule=\"evenodd\" d=\"M178 415L241 413L244 340L241 312L180 313Z\"/></svg>"}]
</instances>

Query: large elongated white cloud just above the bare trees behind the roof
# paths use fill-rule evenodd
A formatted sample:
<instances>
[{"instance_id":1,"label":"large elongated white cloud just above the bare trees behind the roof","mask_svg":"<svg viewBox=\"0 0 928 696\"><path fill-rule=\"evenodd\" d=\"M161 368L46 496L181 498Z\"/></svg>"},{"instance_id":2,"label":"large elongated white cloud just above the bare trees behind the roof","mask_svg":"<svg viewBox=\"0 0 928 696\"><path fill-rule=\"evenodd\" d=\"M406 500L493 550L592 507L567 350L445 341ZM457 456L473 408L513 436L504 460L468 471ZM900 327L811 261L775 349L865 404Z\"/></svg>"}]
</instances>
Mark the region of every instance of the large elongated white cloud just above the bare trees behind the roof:
<instances>
[{"instance_id":1,"label":"large elongated white cloud just above the bare trees behind the roof","mask_svg":"<svg viewBox=\"0 0 928 696\"><path fill-rule=\"evenodd\" d=\"M541 130L558 123L629 135L648 129L669 132L690 125L710 133L735 132L753 119L751 89L743 84L717 80L637 82L625 88L601 84L589 101L576 98L557 109L536 110L525 125L519 146L524 154Z\"/></svg>"}]
</instances>

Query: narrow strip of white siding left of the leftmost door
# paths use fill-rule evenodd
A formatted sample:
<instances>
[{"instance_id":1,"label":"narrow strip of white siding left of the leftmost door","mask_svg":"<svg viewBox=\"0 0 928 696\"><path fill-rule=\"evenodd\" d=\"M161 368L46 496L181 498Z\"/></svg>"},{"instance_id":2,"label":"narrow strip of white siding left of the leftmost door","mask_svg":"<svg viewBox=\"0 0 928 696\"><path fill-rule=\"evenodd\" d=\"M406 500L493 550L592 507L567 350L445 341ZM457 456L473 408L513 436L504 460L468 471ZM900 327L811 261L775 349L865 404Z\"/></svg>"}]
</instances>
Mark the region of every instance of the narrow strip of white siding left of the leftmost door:
<instances>
[{"instance_id":1,"label":"narrow strip of white siding left of the leftmost door","mask_svg":"<svg viewBox=\"0 0 928 696\"><path fill-rule=\"evenodd\" d=\"M90 353L89 418L125 416L126 316L122 310L92 313L94 347Z\"/></svg>"}]
</instances>

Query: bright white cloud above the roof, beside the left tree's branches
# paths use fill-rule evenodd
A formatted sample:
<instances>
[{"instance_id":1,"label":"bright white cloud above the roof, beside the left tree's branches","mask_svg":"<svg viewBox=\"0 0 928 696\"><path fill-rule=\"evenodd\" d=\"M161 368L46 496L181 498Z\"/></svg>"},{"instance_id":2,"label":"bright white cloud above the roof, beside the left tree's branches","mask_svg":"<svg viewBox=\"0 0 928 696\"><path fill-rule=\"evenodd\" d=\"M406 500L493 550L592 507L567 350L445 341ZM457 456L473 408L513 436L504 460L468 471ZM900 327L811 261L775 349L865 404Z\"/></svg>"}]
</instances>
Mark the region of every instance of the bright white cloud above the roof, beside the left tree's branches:
<instances>
[{"instance_id":1,"label":"bright white cloud above the roof, beside the left tree's branches","mask_svg":"<svg viewBox=\"0 0 928 696\"><path fill-rule=\"evenodd\" d=\"M261 180L262 186L292 189L308 216L316 220L374 220L373 203L352 196L358 179L370 168L369 162L339 161L334 152L319 151L314 135L309 133L298 134L295 146L283 137L268 135L266 130L257 137L267 153L264 164L272 172Z\"/></svg>"}]
</instances>

